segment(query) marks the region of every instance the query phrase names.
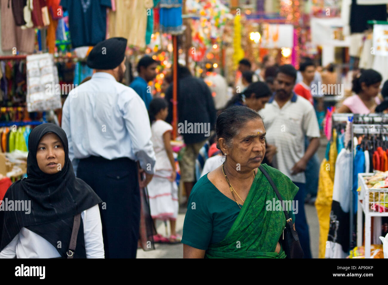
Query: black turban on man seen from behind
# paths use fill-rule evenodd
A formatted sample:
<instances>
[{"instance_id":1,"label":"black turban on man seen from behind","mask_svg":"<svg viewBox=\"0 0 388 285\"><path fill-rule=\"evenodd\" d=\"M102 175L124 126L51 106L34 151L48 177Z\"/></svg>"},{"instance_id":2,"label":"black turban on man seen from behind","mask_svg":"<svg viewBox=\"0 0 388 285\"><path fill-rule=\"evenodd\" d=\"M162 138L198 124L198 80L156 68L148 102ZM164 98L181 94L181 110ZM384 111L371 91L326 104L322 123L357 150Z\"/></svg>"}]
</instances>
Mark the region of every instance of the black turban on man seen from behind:
<instances>
[{"instance_id":1,"label":"black turban on man seen from behind","mask_svg":"<svg viewBox=\"0 0 388 285\"><path fill-rule=\"evenodd\" d=\"M110 38L100 41L90 51L87 65L93 69L114 69L125 57L126 38Z\"/></svg>"}]
</instances>

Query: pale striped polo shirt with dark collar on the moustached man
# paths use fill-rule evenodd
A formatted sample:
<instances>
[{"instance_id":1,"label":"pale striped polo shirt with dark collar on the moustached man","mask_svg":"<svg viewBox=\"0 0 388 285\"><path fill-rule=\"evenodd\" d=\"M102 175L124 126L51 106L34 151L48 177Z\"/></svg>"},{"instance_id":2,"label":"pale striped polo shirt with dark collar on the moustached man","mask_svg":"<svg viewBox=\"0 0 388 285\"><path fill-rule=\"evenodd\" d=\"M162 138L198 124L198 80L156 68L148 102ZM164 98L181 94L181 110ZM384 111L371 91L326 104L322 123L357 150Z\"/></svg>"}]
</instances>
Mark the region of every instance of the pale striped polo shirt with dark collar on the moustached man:
<instances>
[{"instance_id":1,"label":"pale striped polo shirt with dark collar on the moustached man","mask_svg":"<svg viewBox=\"0 0 388 285\"><path fill-rule=\"evenodd\" d=\"M273 166L291 181L306 183L304 172L291 175L291 169L305 154L305 136L320 137L314 107L308 100L294 93L281 109L272 96L260 114L267 132L267 144L277 147Z\"/></svg>"}]
</instances>

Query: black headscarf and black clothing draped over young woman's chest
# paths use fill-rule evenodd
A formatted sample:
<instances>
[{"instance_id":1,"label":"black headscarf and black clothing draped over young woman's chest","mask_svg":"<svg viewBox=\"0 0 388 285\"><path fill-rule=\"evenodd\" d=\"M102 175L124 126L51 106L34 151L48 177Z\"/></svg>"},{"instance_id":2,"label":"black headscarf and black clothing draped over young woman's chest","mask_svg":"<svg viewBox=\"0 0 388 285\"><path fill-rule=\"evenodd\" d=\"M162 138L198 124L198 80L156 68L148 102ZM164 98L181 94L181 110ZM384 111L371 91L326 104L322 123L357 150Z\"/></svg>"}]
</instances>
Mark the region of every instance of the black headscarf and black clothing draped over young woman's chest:
<instances>
[{"instance_id":1,"label":"black headscarf and black clothing draped over young woman's chest","mask_svg":"<svg viewBox=\"0 0 388 285\"><path fill-rule=\"evenodd\" d=\"M36 160L38 144L47 133L54 133L62 141L65 164L61 171L46 174ZM66 251L73 228L74 215L102 202L83 180L76 178L69 159L66 133L55 124L45 123L34 128L28 137L27 178L13 183L3 200L31 201L31 213L26 211L0 211L0 251L26 227L48 240L62 257ZM7 205L5 205L7 206ZM81 219L82 220L82 219ZM59 243L61 242L61 247ZM80 250L79 250L80 249ZM78 233L76 254L85 256L83 226ZM76 256L74 256L76 257Z\"/></svg>"}]
</instances>

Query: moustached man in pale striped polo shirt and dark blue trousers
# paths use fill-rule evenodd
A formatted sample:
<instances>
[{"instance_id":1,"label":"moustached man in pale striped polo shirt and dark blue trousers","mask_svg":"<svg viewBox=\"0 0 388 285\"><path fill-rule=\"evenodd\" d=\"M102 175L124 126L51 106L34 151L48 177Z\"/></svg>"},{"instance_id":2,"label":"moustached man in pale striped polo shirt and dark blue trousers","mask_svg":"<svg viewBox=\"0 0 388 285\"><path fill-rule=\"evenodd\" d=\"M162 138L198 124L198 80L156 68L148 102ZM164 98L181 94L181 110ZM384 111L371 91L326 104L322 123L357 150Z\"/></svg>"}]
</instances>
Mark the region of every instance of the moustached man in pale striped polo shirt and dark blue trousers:
<instances>
[{"instance_id":1,"label":"moustached man in pale striped polo shirt and dark blue trousers","mask_svg":"<svg viewBox=\"0 0 388 285\"><path fill-rule=\"evenodd\" d=\"M275 93L265 108L260 111L267 132L268 144L277 147L272 164L286 174L299 191L295 196L298 201L298 213L295 214L295 228L305 258L311 258L310 238L305 216L305 169L307 162L319 147L319 126L314 107L308 100L293 92L296 70L286 64L279 67L274 79ZM310 144L305 149L305 136Z\"/></svg>"}]
</instances>

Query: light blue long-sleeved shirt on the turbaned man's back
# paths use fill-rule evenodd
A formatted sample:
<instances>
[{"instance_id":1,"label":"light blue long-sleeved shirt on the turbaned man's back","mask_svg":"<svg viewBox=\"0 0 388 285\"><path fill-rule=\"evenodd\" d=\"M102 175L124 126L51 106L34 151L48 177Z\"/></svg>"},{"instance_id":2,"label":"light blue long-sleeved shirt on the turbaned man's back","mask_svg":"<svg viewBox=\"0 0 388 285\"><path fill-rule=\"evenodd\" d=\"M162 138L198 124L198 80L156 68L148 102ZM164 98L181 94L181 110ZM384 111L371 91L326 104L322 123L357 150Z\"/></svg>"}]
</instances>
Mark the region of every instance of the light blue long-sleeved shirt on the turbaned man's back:
<instances>
[{"instance_id":1,"label":"light blue long-sleeved shirt on the turbaned man's back","mask_svg":"<svg viewBox=\"0 0 388 285\"><path fill-rule=\"evenodd\" d=\"M132 88L98 72L69 93L62 109L75 173L78 160L91 155L129 157L153 174L155 153L145 104ZM147 167L148 166L148 167ZM151 169L151 170L150 170Z\"/></svg>"}]
</instances>

